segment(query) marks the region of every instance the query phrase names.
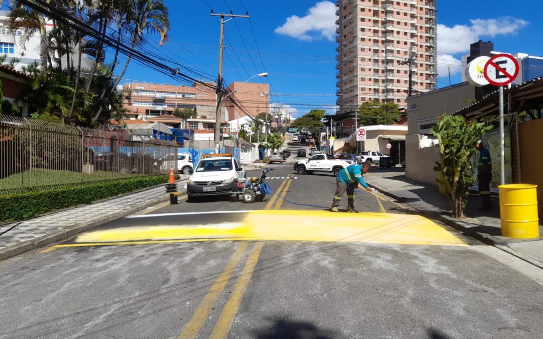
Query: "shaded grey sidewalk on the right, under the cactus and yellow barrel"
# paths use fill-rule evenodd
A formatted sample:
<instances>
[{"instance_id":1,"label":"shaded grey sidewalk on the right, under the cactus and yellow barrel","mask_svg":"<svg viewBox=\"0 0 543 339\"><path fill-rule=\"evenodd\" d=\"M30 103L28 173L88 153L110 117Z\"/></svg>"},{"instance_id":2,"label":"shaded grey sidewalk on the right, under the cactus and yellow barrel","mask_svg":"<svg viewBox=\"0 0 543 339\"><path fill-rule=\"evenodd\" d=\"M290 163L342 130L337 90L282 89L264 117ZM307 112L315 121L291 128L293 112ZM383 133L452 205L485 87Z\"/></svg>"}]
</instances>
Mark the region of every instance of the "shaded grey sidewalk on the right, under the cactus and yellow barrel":
<instances>
[{"instance_id":1,"label":"shaded grey sidewalk on the right, under the cactus and yellow barrel","mask_svg":"<svg viewBox=\"0 0 543 339\"><path fill-rule=\"evenodd\" d=\"M368 174L368 183L398 202L405 203L423 214L428 214L432 218L473 236L473 238L499 247L543 268L542 204L539 205L539 238L511 239L501 236L500 203L497 198L492 199L493 211L477 212L480 203L479 197L470 196L466 206L468 218L456 220L451 218L452 208L449 200L445 195L439 193L436 185L411 180L405 176L404 169L372 168Z\"/></svg>"}]
</instances>

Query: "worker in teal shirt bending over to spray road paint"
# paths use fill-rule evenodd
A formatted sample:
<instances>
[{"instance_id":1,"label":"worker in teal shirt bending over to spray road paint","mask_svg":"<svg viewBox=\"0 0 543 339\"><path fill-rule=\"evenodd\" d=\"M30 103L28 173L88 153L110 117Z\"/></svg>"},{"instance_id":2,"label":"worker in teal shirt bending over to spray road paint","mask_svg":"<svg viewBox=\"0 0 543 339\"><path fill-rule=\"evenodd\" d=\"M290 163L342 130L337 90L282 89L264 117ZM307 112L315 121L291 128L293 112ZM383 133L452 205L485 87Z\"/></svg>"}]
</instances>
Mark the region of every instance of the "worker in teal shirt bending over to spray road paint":
<instances>
[{"instance_id":1,"label":"worker in teal shirt bending over to spray road paint","mask_svg":"<svg viewBox=\"0 0 543 339\"><path fill-rule=\"evenodd\" d=\"M339 202L345 191L347 191L347 212L358 213L355 209L355 189L361 184L368 192L371 187L364 181L363 175L370 171L371 165L350 165L339 171L336 178L336 194L332 201L332 212L338 212Z\"/></svg>"}]
</instances>

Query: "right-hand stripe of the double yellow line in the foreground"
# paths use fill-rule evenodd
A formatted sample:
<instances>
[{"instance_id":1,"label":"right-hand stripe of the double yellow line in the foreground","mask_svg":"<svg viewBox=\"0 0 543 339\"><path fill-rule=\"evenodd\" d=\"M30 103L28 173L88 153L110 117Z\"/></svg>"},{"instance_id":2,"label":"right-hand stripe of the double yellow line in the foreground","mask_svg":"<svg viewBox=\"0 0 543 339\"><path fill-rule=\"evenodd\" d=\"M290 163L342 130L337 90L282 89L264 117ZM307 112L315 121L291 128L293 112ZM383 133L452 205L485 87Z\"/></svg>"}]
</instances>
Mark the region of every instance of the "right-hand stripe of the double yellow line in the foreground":
<instances>
[{"instance_id":1,"label":"right-hand stripe of the double yellow line in the foreground","mask_svg":"<svg viewBox=\"0 0 543 339\"><path fill-rule=\"evenodd\" d=\"M223 311L220 312L219 319L211 332L210 338L224 338L228 335L230 326L239 310L239 304L247 291L247 285L252 277L252 272L255 271L256 263L258 262L258 257L260 257L260 252L264 247L264 242L257 242L255 247L252 248L249 258L243 266L243 270L239 275L239 278L236 282L236 285L230 295L230 299L224 305Z\"/></svg>"}]
</instances>

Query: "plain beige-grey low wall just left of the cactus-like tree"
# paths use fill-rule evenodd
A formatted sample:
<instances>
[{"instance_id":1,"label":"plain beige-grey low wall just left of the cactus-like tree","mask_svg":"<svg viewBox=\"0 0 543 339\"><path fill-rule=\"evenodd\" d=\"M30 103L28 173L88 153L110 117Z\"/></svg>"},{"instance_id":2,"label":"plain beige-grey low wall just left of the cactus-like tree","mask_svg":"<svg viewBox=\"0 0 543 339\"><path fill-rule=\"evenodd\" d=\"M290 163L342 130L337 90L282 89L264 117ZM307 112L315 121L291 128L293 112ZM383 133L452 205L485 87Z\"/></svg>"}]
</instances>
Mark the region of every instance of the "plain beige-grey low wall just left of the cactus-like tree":
<instances>
[{"instance_id":1,"label":"plain beige-grey low wall just left of the cactus-like tree","mask_svg":"<svg viewBox=\"0 0 543 339\"><path fill-rule=\"evenodd\" d=\"M435 162L439 161L439 146L425 146L425 136L408 135L406 137L406 176L410 179L437 185L438 173L434 171ZM422 140L421 140L422 139Z\"/></svg>"}]
</instances>

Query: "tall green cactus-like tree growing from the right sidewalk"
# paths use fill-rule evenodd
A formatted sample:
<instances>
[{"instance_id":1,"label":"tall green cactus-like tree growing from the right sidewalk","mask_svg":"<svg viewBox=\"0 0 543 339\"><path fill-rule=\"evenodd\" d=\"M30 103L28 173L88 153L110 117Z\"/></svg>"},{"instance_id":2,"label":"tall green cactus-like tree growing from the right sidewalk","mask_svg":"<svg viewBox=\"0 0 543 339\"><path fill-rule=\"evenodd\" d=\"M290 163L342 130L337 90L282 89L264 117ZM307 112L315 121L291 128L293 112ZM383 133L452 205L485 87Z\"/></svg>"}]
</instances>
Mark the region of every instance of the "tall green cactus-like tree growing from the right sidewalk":
<instances>
[{"instance_id":1,"label":"tall green cactus-like tree growing from the right sidewalk","mask_svg":"<svg viewBox=\"0 0 543 339\"><path fill-rule=\"evenodd\" d=\"M463 218L468 202L469 188L475 182L473 165L470 159L475 157L475 143L481 136L492 129L477 120L466 120L460 116L444 115L432 128L432 135L439 140L441 162L435 162L434 170L440 172L445 193L452 205L453 218Z\"/></svg>"}]
</instances>

